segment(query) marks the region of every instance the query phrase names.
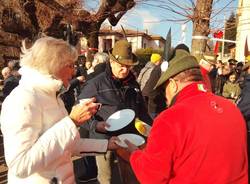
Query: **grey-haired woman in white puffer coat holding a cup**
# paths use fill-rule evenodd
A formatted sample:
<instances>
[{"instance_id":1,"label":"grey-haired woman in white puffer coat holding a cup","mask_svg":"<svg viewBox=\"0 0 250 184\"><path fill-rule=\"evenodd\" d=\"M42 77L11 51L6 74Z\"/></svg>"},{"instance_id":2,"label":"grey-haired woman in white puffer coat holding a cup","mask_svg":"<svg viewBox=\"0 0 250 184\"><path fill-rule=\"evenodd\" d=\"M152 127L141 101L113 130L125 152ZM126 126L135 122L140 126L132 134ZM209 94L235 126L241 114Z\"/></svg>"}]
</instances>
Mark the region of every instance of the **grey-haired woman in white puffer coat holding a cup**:
<instances>
[{"instance_id":1,"label":"grey-haired woman in white puffer coat holding a cup","mask_svg":"<svg viewBox=\"0 0 250 184\"><path fill-rule=\"evenodd\" d=\"M22 78L4 100L0 117L9 184L73 184L72 155L117 147L115 137L80 139L77 127L97 112L94 98L70 114L64 107L60 94L76 59L76 49L61 39L42 37L29 49L23 43Z\"/></svg>"}]
</instances>

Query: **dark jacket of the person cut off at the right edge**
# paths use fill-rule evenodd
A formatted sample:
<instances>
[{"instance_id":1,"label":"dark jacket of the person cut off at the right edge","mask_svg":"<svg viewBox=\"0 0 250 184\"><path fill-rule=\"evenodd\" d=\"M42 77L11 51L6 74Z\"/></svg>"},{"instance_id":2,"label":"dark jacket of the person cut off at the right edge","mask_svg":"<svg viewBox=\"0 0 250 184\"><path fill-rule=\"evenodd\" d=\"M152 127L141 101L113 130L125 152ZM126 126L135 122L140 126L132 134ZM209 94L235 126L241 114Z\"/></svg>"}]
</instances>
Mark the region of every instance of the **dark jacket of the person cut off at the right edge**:
<instances>
[{"instance_id":1,"label":"dark jacket of the person cut off at the right edge","mask_svg":"<svg viewBox=\"0 0 250 184\"><path fill-rule=\"evenodd\" d=\"M241 92L237 106L240 108L241 113L243 114L247 125L248 130L250 128L250 74L245 77L244 87Z\"/></svg>"}]
</instances>

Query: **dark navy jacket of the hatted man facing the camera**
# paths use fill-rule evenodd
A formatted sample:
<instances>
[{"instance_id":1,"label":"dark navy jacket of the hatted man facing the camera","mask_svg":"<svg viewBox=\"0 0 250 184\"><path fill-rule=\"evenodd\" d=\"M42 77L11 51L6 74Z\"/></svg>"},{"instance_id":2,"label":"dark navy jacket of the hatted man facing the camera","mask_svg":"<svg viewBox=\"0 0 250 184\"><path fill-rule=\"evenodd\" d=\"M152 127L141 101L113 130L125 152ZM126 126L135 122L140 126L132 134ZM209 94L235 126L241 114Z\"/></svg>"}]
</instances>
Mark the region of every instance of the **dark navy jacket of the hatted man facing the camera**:
<instances>
[{"instance_id":1,"label":"dark navy jacket of the hatted man facing the camera","mask_svg":"<svg viewBox=\"0 0 250 184\"><path fill-rule=\"evenodd\" d=\"M92 138L108 138L105 134L95 132L95 125L97 121L106 121L111 114L121 109L133 109L136 117L148 124L152 123L139 84L131 72L125 79L118 80L112 75L110 65L107 65L105 72L86 82L79 95L79 99L90 97L95 97L102 104L94 119L85 125Z\"/></svg>"}]
</instances>

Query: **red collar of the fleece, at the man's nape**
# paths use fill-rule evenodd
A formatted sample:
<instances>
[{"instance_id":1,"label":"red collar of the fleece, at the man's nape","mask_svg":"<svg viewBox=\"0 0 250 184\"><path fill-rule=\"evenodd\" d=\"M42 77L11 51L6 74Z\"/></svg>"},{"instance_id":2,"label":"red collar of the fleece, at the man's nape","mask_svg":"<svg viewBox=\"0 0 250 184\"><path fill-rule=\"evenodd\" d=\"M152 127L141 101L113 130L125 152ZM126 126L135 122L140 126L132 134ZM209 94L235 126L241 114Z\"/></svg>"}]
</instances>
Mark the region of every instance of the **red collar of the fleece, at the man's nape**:
<instances>
[{"instance_id":1,"label":"red collar of the fleece, at the man's nape","mask_svg":"<svg viewBox=\"0 0 250 184\"><path fill-rule=\"evenodd\" d=\"M193 82L186 87L184 87L179 93L177 93L172 99L169 107L175 105L176 103L186 99L193 97L195 95L206 93L207 88L205 87L203 82Z\"/></svg>"}]
</instances>

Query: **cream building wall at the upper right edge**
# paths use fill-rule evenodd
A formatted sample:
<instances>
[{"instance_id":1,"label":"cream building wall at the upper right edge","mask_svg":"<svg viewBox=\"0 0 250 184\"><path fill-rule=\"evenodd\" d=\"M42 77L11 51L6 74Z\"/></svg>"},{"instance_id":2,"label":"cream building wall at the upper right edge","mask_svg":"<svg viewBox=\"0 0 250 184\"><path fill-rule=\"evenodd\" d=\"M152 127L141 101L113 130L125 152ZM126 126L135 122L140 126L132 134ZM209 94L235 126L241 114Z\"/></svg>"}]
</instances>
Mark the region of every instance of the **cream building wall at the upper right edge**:
<instances>
[{"instance_id":1,"label":"cream building wall at the upper right edge","mask_svg":"<svg viewBox=\"0 0 250 184\"><path fill-rule=\"evenodd\" d=\"M250 48L250 0L239 0L237 17L238 25L235 58L238 61L245 61L246 38L248 39L248 49Z\"/></svg>"}]
</instances>

